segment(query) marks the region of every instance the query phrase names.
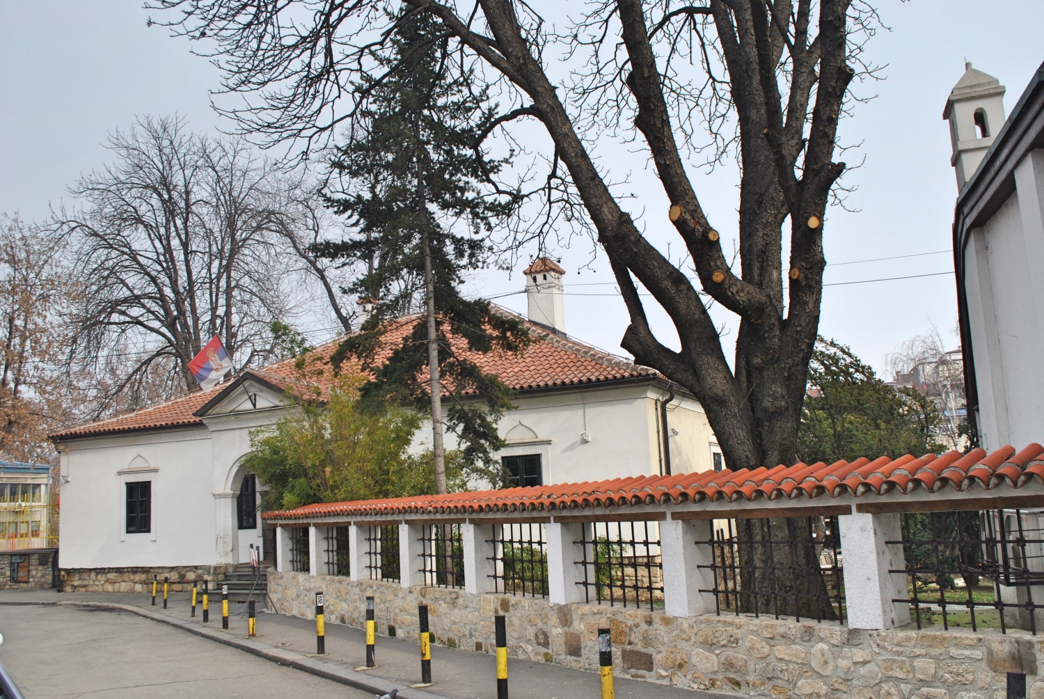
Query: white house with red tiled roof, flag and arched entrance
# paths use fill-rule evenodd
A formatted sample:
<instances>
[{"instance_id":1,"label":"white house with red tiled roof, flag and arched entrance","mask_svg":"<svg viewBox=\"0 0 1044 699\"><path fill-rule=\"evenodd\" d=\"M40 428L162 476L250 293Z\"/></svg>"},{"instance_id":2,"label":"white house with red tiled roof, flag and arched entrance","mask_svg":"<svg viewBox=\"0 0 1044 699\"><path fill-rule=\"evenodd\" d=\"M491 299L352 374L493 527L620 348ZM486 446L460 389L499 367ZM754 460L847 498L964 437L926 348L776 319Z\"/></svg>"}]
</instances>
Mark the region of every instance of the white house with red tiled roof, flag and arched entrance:
<instances>
[{"instance_id":1,"label":"white house with red tiled roof, flag and arched entrance","mask_svg":"<svg viewBox=\"0 0 1044 699\"><path fill-rule=\"evenodd\" d=\"M565 335L561 267L541 260L527 277L530 313L540 314L530 324L537 341L519 355L473 357L516 392L516 410L501 421L507 446L499 457L522 484L720 464L694 398L651 369ZM210 393L53 435L66 575L81 581L98 568L129 568L143 579L158 568L191 572L245 562L252 543L270 557L272 543L257 516L259 484L241 463L251 430L292 410L287 395L301 388L294 376L292 360L244 371Z\"/></svg>"}]
</instances>

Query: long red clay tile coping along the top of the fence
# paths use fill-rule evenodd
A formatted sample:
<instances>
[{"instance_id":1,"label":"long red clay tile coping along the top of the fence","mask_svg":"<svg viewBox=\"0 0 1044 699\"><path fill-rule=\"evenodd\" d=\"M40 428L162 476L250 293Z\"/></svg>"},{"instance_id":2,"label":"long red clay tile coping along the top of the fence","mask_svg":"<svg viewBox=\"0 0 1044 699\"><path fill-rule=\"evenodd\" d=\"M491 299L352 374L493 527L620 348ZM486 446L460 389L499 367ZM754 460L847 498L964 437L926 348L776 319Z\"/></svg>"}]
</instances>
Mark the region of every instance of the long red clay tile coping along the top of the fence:
<instances>
[{"instance_id":1,"label":"long red clay tile coping along the top of the fence","mask_svg":"<svg viewBox=\"0 0 1044 699\"><path fill-rule=\"evenodd\" d=\"M881 457L871 461L838 461L829 466L794 464L775 468L704 471L680 475L645 475L596 483L566 483L530 488L508 488L447 495L419 495L353 503L319 503L295 510L266 512L274 520L309 519L324 516L373 516L405 514L473 514L574 510L626 505L667 505L702 500L751 502L760 498L814 498L822 495L856 497L891 491L939 492L944 488L993 490L1044 484L1044 446L1030 444L1016 453L1004 446L987 453L949 451L920 459L907 455L895 461Z\"/></svg>"}]
</instances>

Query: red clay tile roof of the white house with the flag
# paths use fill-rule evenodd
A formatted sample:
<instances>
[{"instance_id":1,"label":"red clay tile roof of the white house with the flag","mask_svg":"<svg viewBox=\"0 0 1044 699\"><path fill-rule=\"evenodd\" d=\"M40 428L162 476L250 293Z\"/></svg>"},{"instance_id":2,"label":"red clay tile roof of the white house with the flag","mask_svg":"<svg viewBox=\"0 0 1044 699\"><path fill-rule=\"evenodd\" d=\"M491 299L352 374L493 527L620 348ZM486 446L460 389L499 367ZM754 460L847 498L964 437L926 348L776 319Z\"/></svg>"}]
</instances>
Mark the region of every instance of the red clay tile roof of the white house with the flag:
<instances>
[{"instance_id":1,"label":"red clay tile roof of the white house with the flag","mask_svg":"<svg viewBox=\"0 0 1044 699\"><path fill-rule=\"evenodd\" d=\"M401 322L390 325L385 333L385 342L389 346L393 343L401 342L412 327L411 323L406 322L408 320L410 319L402 319ZM652 369L633 364L627 359L583 345L574 340L562 337L531 323L526 323L526 326L535 342L520 354L504 352L482 354L467 351L464 353L468 354L483 371L496 374L500 380L515 391L659 376ZM340 339L333 340L317 347L309 355L311 358L306 368L306 376L309 380L302 378L294 359L280 362L263 369L250 369L244 374L253 373L284 391L303 393L308 397L311 397L311 394L304 387L311 383L319 390L321 399L325 399L326 390L330 386L332 376L327 363L339 344ZM464 345L464 341L460 341L460 344ZM458 351L462 349L460 347ZM207 393L195 391L184 398L166 403L119 415L100 422L91 422L55 432L50 435L50 438L61 441L138 429L203 424L203 420L195 413L216 398L220 394L220 390L228 387L229 383L223 383L218 391Z\"/></svg>"}]
</instances>

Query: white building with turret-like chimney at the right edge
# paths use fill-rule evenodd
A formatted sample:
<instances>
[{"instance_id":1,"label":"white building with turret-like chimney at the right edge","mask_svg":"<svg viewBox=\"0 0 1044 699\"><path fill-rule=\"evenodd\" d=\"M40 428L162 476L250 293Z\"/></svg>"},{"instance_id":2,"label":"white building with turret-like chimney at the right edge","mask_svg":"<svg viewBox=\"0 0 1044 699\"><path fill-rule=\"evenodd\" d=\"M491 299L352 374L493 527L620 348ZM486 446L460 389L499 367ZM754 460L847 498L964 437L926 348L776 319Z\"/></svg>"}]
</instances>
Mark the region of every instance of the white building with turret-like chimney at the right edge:
<instances>
[{"instance_id":1,"label":"white building with turret-like chimney at the right edge","mask_svg":"<svg viewBox=\"0 0 1044 699\"><path fill-rule=\"evenodd\" d=\"M968 64L943 113L968 415L987 449L1044 434L1044 65L1006 120L1003 94Z\"/></svg>"}]
</instances>

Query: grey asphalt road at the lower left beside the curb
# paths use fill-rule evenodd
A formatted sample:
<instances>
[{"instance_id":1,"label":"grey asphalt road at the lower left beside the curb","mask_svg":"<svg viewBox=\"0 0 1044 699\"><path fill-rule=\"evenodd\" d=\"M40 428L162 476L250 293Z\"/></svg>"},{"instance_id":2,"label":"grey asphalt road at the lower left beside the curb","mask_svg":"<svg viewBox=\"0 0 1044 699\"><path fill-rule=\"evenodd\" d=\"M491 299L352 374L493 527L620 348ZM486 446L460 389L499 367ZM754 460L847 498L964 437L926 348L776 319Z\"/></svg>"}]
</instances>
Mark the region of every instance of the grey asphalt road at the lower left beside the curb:
<instances>
[{"instance_id":1,"label":"grey asphalt road at the lower left beside the curb","mask_svg":"<svg viewBox=\"0 0 1044 699\"><path fill-rule=\"evenodd\" d=\"M136 614L0 605L0 661L26 699L372 699Z\"/></svg>"}]
</instances>

